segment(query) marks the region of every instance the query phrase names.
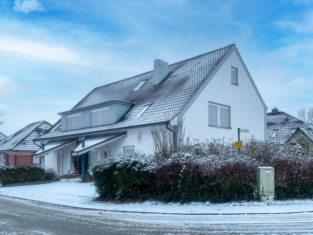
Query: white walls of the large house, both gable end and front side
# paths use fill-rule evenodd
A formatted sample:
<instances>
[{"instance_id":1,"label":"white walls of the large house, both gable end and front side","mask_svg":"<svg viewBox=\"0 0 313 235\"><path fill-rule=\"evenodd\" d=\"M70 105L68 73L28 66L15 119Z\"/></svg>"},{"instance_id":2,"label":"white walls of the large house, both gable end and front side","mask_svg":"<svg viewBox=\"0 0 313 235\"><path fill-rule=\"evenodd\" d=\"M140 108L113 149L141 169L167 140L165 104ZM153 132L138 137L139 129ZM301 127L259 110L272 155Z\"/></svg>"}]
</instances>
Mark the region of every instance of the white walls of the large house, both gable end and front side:
<instances>
[{"instance_id":1,"label":"white walls of the large house, both gable end and front side","mask_svg":"<svg viewBox=\"0 0 313 235\"><path fill-rule=\"evenodd\" d=\"M248 70L237 50L233 50L224 59L223 63L221 62L220 66L216 68L216 72L211 74L206 83L200 87L177 116L184 119L186 136L189 135L191 139L197 139L200 142L212 138L232 142L238 139L237 128L244 128L249 129L250 132L241 133L241 140L252 135L257 139L265 139L266 107ZM237 77L234 79L236 72ZM231 82L235 81L236 83L237 78L238 84ZM220 107L224 108L224 111L228 109L230 115L228 128L209 125L209 104L218 104L218 110ZM177 120L177 118L174 119ZM174 123L173 120L172 124ZM223 123L225 123L225 118ZM125 148L133 148L134 152L152 153L153 142L149 135L150 129L150 126L124 129L123 131L127 132L126 137L92 150L91 163L96 159L104 158L104 154L125 153ZM69 170L73 170L71 169L70 155L74 148L75 144L71 144L45 155L45 167L54 168L60 175L67 174ZM62 160L60 160L60 152L63 154Z\"/></svg>"}]
</instances>

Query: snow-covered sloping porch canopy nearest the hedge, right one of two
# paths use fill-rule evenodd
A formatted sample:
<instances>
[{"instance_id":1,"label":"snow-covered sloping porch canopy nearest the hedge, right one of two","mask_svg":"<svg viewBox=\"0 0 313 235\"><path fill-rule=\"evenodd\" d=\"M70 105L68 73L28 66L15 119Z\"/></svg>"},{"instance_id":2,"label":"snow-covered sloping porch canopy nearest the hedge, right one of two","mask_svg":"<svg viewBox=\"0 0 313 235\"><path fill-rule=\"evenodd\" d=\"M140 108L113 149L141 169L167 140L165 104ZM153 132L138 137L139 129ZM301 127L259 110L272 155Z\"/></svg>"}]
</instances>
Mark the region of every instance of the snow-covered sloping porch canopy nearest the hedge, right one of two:
<instances>
[{"instance_id":1,"label":"snow-covered sloping porch canopy nearest the hedge, right one of two","mask_svg":"<svg viewBox=\"0 0 313 235\"><path fill-rule=\"evenodd\" d=\"M118 139L124 138L127 136L127 132L112 134L112 135L102 135L95 137L87 137L85 138L85 147L82 147L82 143L80 143L76 149L72 152L72 156L77 156L80 154L87 153L91 150L97 149L105 144L109 144Z\"/></svg>"}]
</instances>

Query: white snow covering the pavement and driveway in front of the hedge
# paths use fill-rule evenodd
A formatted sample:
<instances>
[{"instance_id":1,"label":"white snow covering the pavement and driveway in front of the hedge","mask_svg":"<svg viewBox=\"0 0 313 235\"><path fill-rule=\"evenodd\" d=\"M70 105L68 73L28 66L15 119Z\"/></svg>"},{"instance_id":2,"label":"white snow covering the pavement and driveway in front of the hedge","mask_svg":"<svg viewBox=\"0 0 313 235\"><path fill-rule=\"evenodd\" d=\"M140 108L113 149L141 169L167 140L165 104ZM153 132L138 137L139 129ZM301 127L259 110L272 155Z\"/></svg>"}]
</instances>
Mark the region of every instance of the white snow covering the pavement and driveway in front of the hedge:
<instances>
[{"instance_id":1,"label":"white snow covering the pavement and driveway in front of the hedge","mask_svg":"<svg viewBox=\"0 0 313 235\"><path fill-rule=\"evenodd\" d=\"M23 199L48 202L64 206L75 206L89 209L155 212L155 213L286 213L313 211L313 200L264 201L243 203L104 203L94 199L98 196L92 183L78 183L77 180L61 180L60 182L26 185L16 187L0 187L0 195L14 196Z\"/></svg>"}]
</instances>

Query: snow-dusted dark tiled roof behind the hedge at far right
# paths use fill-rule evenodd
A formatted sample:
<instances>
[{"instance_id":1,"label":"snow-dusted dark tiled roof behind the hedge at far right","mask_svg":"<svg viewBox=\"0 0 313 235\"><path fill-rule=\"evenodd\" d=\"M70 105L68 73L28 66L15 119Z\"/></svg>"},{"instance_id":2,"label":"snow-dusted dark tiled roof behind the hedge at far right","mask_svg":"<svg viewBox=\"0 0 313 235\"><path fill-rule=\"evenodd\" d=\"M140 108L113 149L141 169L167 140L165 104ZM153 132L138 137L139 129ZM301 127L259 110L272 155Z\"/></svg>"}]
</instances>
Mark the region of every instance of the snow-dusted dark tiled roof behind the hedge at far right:
<instances>
[{"instance_id":1,"label":"snow-dusted dark tiled roof behind the hedge at far right","mask_svg":"<svg viewBox=\"0 0 313 235\"><path fill-rule=\"evenodd\" d=\"M313 134L313 126L299 118L296 118L286 112L267 113L266 136L268 140L285 143L287 138L291 136L291 130L301 128L308 134ZM273 131L278 130L275 137L272 137Z\"/></svg>"}]
</instances>

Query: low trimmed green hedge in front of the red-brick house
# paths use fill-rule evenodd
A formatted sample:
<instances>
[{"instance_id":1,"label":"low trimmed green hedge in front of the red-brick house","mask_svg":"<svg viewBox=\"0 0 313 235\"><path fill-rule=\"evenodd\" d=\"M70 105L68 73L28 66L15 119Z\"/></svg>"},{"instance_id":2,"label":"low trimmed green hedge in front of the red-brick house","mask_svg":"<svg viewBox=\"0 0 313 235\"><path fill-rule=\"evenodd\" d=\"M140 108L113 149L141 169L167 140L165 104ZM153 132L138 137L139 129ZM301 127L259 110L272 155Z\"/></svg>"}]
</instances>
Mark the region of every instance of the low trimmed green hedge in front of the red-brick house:
<instances>
[{"instance_id":1,"label":"low trimmed green hedge in front of the red-brick house","mask_svg":"<svg viewBox=\"0 0 313 235\"><path fill-rule=\"evenodd\" d=\"M18 165L0 167L1 185L43 181L44 179L44 168L40 165Z\"/></svg>"}]
</instances>

